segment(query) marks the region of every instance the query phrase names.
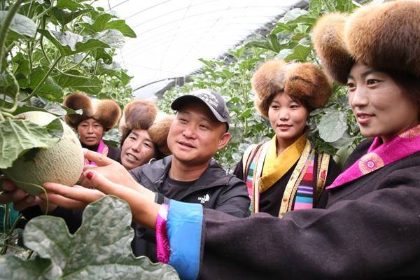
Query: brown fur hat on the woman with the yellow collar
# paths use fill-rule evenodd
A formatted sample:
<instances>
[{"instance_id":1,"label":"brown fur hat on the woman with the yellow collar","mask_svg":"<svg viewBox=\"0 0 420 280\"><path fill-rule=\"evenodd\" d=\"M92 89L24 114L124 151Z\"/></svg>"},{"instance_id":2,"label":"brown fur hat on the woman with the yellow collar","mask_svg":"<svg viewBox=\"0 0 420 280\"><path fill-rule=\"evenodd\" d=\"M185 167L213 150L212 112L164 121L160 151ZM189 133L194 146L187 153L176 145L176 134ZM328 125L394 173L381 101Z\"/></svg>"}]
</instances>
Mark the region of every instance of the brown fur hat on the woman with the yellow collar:
<instances>
[{"instance_id":1,"label":"brown fur hat on the woman with the yellow collar","mask_svg":"<svg viewBox=\"0 0 420 280\"><path fill-rule=\"evenodd\" d=\"M256 93L255 106L265 118L272 98L279 92L304 102L309 111L324 106L332 94L327 76L314 64L279 59L260 66L253 75L252 87Z\"/></svg>"}]
</instances>

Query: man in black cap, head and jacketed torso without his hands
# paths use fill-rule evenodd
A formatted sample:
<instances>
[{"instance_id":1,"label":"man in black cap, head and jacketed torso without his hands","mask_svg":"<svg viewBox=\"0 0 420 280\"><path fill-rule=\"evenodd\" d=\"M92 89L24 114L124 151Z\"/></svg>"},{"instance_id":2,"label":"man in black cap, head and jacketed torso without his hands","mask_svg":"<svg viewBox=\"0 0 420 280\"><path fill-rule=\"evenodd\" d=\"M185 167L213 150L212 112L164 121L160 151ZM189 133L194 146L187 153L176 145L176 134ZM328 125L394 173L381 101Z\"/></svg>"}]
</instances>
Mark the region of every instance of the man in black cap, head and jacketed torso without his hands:
<instances>
[{"instance_id":1,"label":"man in black cap, head and jacketed torso without his hands","mask_svg":"<svg viewBox=\"0 0 420 280\"><path fill-rule=\"evenodd\" d=\"M175 99L171 107L176 110L167 138L172 155L132 169L134 179L152 190L159 204L173 199L200 203L237 217L248 216L250 200L245 183L226 174L213 159L230 140L229 112L223 97L212 90L195 90ZM148 242L153 241L154 233L139 225L135 228L134 254L156 260L156 246Z\"/></svg>"}]
</instances>

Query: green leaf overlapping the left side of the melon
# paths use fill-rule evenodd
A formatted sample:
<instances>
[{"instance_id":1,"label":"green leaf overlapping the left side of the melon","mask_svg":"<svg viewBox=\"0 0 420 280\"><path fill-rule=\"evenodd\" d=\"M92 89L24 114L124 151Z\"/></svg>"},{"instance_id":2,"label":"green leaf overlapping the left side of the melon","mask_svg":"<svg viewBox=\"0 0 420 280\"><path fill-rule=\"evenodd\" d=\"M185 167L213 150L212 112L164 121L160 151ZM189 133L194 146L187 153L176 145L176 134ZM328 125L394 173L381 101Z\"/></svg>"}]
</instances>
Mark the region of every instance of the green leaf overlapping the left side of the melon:
<instances>
[{"instance_id":1,"label":"green leaf overlapping the left side of the melon","mask_svg":"<svg viewBox=\"0 0 420 280\"><path fill-rule=\"evenodd\" d=\"M54 146L59 138L53 135L62 134L62 125L41 127L29 120L11 120L7 118L0 123L0 169L11 167L13 162L31 148L48 148Z\"/></svg>"}]
</instances>

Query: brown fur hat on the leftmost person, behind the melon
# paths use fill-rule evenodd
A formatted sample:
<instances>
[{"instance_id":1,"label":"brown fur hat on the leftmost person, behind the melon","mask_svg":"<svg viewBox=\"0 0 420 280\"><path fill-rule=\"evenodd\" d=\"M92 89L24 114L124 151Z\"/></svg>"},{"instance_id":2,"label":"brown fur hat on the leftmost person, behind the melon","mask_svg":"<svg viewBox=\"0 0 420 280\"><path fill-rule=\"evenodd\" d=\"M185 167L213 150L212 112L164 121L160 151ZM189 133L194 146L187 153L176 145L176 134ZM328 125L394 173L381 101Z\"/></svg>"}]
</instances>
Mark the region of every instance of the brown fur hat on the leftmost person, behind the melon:
<instances>
[{"instance_id":1,"label":"brown fur hat on the leftmost person, behind the melon","mask_svg":"<svg viewBox=\"0 0 420 280\"><path fill-rule=\"evenodd\" d=\"M94 118L104 127L105 131L108 131L118 123L121 116L121 109L117 102L111 99L104 99L93 104L90 98L81 92L69 94L64 99L63 105L75 111L83 109L82 115L73 114L64 116L64 121L75 130L77 130L79 123L83 120Z\"/></svg>"}]
</instances>

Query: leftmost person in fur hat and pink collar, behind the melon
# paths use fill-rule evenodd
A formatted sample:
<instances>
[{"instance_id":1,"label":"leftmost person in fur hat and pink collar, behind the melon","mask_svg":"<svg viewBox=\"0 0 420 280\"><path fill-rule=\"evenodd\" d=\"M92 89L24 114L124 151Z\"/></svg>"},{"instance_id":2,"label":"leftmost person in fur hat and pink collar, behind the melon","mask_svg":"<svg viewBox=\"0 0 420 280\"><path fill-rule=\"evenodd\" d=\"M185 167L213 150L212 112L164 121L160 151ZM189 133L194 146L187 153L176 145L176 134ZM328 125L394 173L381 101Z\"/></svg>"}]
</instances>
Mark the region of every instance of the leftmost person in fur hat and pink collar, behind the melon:
<instances>
[{"instance_id":1,"label":"leftmost person in fur hat and pink collar, behind the melon","mask_svg":"<svg viewBox=\"0 0 420 280\"><path fill-rule=\"evenodd\" d=\"M99 100L93 104L90 98L81 92L69 94L63 105L75 111L83 110L81 115L64 116L64 121L76 130L83 148L120 162L120 148L107 146L102 140L104 133L111 130L120 120L120 106L111 99Z\"/></svg>"}]
</instances>

